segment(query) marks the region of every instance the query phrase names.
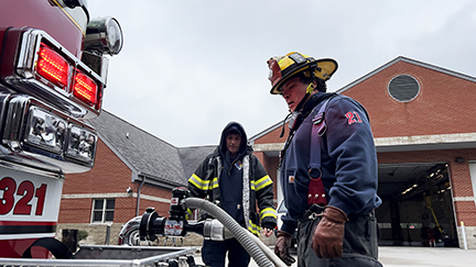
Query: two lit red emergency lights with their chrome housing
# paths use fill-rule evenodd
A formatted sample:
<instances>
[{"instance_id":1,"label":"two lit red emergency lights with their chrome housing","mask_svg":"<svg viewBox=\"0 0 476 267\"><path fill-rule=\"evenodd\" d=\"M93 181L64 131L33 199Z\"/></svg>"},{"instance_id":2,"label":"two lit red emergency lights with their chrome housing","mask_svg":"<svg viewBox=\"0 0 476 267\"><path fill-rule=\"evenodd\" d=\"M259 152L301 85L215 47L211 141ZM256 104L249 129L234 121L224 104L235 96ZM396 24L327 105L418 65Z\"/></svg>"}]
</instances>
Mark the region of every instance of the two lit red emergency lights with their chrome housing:
<instances>
[{"instance_id":1,"label":"two lit red emergency lights with their chrome housing","mask_svg":"<svg viewBox=\"0 0 476 267\"><path fill-rule=\"evenodd\" d=\"M8 34L12 37L8 36L7 42L18 42L14 35L20 35L21 45L18 58L3 58L2 66L13 65L10 74L2 73L7 84L75 118L90 119L100 113L106 77L41 30L15 29Z\"/></svg>"}]
</instances>

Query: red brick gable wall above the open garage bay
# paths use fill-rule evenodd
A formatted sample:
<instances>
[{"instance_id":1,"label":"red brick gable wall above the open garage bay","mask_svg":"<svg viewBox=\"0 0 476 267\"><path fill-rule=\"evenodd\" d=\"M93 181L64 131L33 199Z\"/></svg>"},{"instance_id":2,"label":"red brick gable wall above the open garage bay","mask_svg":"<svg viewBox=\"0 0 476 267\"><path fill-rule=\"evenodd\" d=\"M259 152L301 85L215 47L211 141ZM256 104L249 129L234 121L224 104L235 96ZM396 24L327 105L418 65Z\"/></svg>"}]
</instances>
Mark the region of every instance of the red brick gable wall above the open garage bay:
<instances>
[{"instance_id":1,"label":"red brick gable wall above the open garage bay","mask_svg":"<svg viewBox=\"0 0 476 267\"><path fill-rule=\"evenodd\" d=\"M388 93L398 75L420 84L420 94L399 102ZM399 62L343 94L358 100L370 114L375 137L475 133L476 124L464 114L476 102L476 84L413 64Z\"/></svg>"}]
</instances>

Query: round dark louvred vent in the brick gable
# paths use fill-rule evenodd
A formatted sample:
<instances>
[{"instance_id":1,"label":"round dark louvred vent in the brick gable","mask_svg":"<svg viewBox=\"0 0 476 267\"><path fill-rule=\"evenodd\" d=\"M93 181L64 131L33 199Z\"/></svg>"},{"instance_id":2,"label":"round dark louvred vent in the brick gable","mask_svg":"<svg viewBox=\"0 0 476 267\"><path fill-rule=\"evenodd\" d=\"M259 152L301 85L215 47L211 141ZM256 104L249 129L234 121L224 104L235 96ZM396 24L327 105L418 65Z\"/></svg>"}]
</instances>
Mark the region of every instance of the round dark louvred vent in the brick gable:
<instances>
[{"instance_id":1,"label":"round dark louvred vent in the brick gable","mask_svg":"<svg viewBox=\"0 0 476 267\"><path fill-rule=\"evenodd\" d=\"M399 75L388 85L390 96L400 102L409 102L420 93L420 85L409 75Z\"/></svg>"}]
</instances>

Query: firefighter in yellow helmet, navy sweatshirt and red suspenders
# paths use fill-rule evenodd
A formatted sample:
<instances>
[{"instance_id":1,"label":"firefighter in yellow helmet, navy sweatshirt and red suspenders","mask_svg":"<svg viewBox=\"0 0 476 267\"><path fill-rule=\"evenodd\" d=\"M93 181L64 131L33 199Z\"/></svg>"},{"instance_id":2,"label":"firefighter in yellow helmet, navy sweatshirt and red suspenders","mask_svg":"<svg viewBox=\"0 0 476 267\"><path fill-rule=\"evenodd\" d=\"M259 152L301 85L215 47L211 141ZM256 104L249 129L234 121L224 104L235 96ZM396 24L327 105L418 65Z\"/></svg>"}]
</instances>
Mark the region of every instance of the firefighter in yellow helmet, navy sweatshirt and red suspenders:
<instances>
[{"instance_id":1,"label":"firefighter in yellow helmet, navy sweatshirt and red suspenders","mask_svg":"<svg viewBox=\"0 0 476 267\"><path fill-rule=\"evenodd\" d=\"M290 131L281 152L288 213L274 253L286 264L298 229L298 266L381 266L378 262L377 155L369 118L356 100L326 93L334 59L296 52L268 60L271 93L281 94ZM286 121L286 120L284 120Z\"/></svg>"}]
</instances>

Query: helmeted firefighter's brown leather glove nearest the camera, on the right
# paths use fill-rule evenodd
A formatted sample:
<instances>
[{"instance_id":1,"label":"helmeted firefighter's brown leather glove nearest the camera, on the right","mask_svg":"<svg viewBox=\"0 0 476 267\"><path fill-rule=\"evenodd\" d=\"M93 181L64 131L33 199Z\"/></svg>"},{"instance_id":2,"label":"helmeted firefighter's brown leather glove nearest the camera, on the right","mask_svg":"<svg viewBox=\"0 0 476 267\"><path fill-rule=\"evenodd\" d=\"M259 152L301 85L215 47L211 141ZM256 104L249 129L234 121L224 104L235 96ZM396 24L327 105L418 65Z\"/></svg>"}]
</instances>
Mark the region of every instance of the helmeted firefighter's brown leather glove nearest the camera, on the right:
<instances>
[{"instance_id":1,"label":"helmeted firefighter's brown leather glove nearest the camera, on the right","mask_svg":"<svg viewBox=\"0 0 476 267\"><path fill-rule=\"evenodd\" d=\"M312 248L320 258L342 257L346 213L335 207L327 205L321 222L314 230Z\"/></svg>"}]
</instances>

